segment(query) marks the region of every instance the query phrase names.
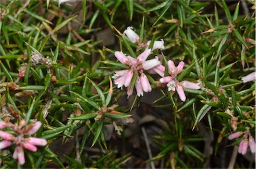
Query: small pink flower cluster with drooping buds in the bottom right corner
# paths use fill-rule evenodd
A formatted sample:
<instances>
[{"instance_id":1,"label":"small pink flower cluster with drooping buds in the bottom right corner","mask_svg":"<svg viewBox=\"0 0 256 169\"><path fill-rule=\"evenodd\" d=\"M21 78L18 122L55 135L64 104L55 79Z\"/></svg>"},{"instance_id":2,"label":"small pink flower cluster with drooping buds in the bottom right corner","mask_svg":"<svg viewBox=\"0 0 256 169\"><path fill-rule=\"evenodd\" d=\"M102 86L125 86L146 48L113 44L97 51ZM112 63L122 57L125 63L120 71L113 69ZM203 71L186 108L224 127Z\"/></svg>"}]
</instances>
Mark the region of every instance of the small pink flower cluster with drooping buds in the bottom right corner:
<instances>
[{"instance_id":1,"label":"small pink flower cluster with drooping buds in the bottom right corner","mask_svg":"<svg viewBox=\"0 0 256 169\"><path fill-rule=\"evenodd\" d=\"M249 130L245 132L234 132L233 134L229 135L229 140L233 140L234 138L239 138L241 135L243 135L243 138L241 139L241 142L239 143L238 152L245 155L248 149L248 146L252 153L255 153L255 140L253 136L251 136L251 133ZM248 139L249 136L249 139Z\"/></svg>"}]
</instances>

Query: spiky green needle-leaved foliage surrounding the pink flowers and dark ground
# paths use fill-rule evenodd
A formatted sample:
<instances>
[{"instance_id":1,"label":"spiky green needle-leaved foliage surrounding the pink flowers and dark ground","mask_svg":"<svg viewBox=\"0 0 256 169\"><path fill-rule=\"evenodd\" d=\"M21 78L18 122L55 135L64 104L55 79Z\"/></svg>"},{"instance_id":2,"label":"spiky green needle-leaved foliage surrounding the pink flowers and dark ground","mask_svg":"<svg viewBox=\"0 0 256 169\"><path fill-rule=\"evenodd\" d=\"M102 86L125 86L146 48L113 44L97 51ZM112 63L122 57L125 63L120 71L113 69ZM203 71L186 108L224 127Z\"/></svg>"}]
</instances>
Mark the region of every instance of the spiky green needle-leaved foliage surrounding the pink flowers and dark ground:
<instances>
[{"instance_id":1,"label":"spiky green needle-leaved foliage surrounding the pink flowers and dark ground","mask_svg":"<svg viewBox=\"0 0 256 169\"><path fill-rule=\"evenodd\" d=\"M253 2L247 4L251 7ZM204 127L217 136L211 155L216 156L222 140L233 132L227 109L238 118L237 130L255 132L255 82L241 82L241 77L255 71L255 12L244 15L240 3L231 8L225 1L79 1L59 5L47 0L1 1L0 7L1 119L40 120L44 126L36 136L46 138L49 144L57 138L65 142L85 128L78 151L81 159L75 158L75 150L65 156L69 168L122 168L129 160L129 154L115 156L102 130L105 124L130 118L129 110L135 105L116 107L125 90L117 92L109 81L114 71L124 68L109 57L114 51L131 56L141 53L121 36L128 26L135 28L141 43L164 39L163 65L170 59L186 64L179 80L202 82L201 90L185 89L186 102L152 85L163 92L155 106L170 110L173 116L173 121L167 121L169 130L155 136L161 152L154 160L165 159L166 168L202 168L210 156L198 150L203 136L191 130L203 120ZM112 30L115 45L105 47L95 38L104 29ZM51 64L31 64L31 53L49 56ZM25 77L19 78L23 63L27 63ZM154 84L159 80L149 79ZM134 103L140 100L134 99ZM157 104L162 100L169 104ZM112 114L110 109L122 113ZM99 158L82 153L87 142L101 148ZM231 146L238 143L239 139ZM11 157L13 150L7 155L1 152L2 168L21 167ZM25 156L24 167L46 168L49 162L65 167L49 146L35 153L27 151Z\"/></svg>"}]
</instances>

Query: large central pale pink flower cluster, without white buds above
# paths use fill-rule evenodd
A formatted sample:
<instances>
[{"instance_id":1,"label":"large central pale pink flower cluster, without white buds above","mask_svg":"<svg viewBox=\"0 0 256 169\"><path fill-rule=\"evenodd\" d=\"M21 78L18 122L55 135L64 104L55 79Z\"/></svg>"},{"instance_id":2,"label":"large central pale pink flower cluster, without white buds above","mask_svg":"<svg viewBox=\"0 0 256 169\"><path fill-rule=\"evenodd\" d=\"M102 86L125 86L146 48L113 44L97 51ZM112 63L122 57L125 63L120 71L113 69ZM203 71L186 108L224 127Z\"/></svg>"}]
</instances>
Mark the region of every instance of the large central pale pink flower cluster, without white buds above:
<instances>
[{"instance_id":1,"label":"large central pale pink flower cluster, without white buds above","mask_svg":"<svg viewBox=\"0 0 256 169\"><path fill-rule=\"evenodd\" d=\"M138 76L135 82L137 96L143 96L143 92L151 92L152 88L149 83L149 79L147 79L144 72L149 70L155 70L157 72L157 70L160 68L156 67L160 65L160 61L158 57L147 60L147 57L149 57L150 54L151 49L145 49L145 51L143 51L143 53L141 53L137 59L135 59L130 56L125 56L122 52L115 52L115 57L117 60L123 65L128 65L130 69L115 71L115 75L113 75L112 78L115 79L114 83L117 85L117 88L123 88L123 86L128 88L128 96L133 93L133 88L130 88L130 85L134 75Z\"/></svg>"}]
</instances>

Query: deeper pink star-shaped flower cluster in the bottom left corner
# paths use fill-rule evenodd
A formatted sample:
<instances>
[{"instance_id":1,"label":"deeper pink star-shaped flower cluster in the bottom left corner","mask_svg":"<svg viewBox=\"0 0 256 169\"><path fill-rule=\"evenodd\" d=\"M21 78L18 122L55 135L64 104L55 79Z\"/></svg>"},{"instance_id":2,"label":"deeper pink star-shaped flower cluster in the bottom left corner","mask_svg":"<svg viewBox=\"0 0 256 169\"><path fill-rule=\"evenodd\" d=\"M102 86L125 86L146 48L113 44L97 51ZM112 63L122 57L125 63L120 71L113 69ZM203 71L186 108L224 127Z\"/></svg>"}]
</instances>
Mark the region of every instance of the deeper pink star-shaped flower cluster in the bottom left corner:
<instances>
[{"instance_id":1,"label":"deeper pink star-shaped flower cluster in the bottom left corner","mask_svg":"<svg viewBox=\"0 0 256 169\"><path fill-rule=\"evenodd\" d=\"M19 125L1 121L0 128L11 128L15 134L0 131L0 137L3 138L3 141L0 142L0 150L16 143L13 158L18 159L19 164L23 165L25 163L24 148L36 152L36 146L45 146L47 144L47 140L44 138L25 137L25 135L35 134L40 126L41 122L39 121L28 125L26 125L25 120L21 120Z\"/></svg>"}]
</instances>

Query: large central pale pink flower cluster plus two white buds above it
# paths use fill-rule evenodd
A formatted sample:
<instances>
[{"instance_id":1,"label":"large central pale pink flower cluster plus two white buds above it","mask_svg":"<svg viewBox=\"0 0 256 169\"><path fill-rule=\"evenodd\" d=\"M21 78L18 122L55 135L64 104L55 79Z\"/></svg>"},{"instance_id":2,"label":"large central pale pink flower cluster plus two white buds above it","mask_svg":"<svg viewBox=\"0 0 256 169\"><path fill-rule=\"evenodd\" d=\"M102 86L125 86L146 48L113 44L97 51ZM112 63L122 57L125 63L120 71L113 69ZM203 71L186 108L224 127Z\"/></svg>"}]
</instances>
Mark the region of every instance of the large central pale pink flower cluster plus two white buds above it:
<instances>
[{"instance_id":1,"label":"large central pale pink flower cluster plus two white buds above it","mask_svg":"<svg viewBox=\"0 0 256 169\"><path fill-rule=\"evenodd\" d=\"M123 34L126 35L129 41L132 43L139 44L139 35L137 35L137 33L135 33L131 27L127 27ZM158 57L147 60L153 50L164 49L163 40L155 41L152 49L148 49L147 47L149 47L150 43L151 41L147 42L145 45L145 51L143 51L143 53L141 53L137 59L124 55L122 51L115 52L115 57L118 59L118 61L120 61L123 65L128 65L130 69L115 71L115 75L113 75L112 78L115 79L114 83L117 85L117 88L123 88L123 86L128 88L128 96L133 93L133 86L131 86L133 76L137 76L135 82L137 96L143 96L143 92L151 92L152 90L149 79L147 79L147 76L145 75L145 71L148 71L148 73L158 73L160 76L164 75L165 67L161 65Z\"/></svg>"}]
</instances>

